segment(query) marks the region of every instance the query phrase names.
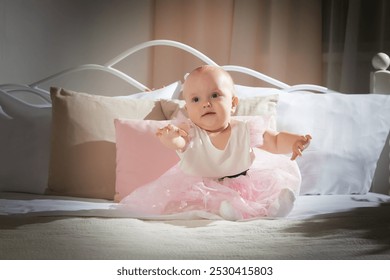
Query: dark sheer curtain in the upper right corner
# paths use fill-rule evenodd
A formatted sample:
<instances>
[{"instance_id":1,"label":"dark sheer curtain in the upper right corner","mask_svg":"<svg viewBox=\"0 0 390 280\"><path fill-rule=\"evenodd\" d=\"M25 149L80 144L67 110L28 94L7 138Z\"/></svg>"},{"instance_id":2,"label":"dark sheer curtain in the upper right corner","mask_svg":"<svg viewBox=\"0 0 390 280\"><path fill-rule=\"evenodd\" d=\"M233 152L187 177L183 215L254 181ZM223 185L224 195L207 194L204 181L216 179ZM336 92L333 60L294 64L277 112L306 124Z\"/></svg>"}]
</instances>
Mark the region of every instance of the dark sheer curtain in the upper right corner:
<instances>
[{"instance_id":1,"label":"dark sheer curtain in the upper right corner","mask_svg":"<svg viewBox=\"0 0 390 280\"><path fill-rule=\"evenodd\" d=\"M369 92L372 57L390 54L390 4L386 0L324 0L323 81L346 93Z\"/></svg>"}]
</instances>

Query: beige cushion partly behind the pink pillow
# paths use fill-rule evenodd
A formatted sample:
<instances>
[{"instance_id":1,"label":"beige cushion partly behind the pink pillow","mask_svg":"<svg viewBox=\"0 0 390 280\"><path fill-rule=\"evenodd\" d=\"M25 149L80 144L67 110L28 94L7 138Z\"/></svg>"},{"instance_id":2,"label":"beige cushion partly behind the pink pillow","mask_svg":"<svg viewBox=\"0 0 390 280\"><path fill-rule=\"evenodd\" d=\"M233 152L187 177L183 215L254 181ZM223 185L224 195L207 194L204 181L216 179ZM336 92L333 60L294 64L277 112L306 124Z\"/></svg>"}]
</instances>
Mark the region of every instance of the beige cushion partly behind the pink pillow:
<instances>
[{"instance_id":1,"label":"beige cushion partly behind the pink pillow","mask_svg":"<svg viewBox=\"0 0 390 280\"><path fill-rule=\"evenodd\" d=\"M52 87L52 134L46 193L113 199L114 119L163 120L158 100L97 96Z\"/></svg>"}]
</instances>

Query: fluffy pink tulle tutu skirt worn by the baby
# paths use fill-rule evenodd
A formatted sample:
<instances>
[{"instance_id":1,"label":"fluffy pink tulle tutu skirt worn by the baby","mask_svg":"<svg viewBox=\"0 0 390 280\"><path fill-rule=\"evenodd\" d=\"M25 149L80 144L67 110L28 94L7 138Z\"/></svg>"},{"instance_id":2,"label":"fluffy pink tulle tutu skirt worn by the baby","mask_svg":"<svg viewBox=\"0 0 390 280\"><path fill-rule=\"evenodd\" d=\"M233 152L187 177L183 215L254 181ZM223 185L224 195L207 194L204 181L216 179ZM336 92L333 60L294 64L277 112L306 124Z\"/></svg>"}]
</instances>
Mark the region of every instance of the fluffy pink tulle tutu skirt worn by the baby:
<instances>
[{"instance_id":1,"label":"fluffy pink tulle tutu skirt worn by the baby","mask_svg":"<svg viewBox=\"0 0 390 280\"><path fill-rule=\"evenodd\" d=\"M247 174L235 178L189 176L176 165L157 180L123 198L121 207L134 216L188 211L221 216L221 203L228 202L240 219L272 216L270 207L278 205L281 190L298 194L301 176L296 162L288 157L264 151L257 153L260 155Z\"/></svg>"}]
</instances>

